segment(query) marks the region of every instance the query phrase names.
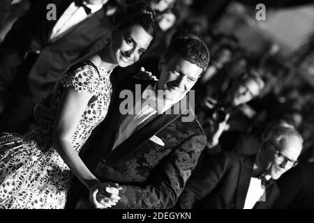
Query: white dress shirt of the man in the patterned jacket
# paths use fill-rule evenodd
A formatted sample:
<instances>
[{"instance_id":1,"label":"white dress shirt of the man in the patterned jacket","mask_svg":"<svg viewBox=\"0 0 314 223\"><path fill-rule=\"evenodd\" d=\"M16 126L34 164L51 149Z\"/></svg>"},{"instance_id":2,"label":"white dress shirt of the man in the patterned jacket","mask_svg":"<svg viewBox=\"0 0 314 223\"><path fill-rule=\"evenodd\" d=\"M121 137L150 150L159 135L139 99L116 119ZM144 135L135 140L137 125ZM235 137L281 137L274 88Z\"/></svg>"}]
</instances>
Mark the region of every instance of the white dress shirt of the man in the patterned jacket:
<instances>
[{"instance_id":1,"label":"white dress shirt of the man in the patterned jacket","mask_svg":"<svg viewBox=\"0 0 314 223\"><path fill-rule=\"evenodd\" d=\"M127 114L122 115L119 119L116 138L112 149L116 148L121 142L130 137L135 130L147 124L147 118L156 114L157 111L158 114L162 114L167 109L170 109L172 105L184 98L184 96L185 95L177 100L160 100L160 97L156 97L156 85L154 87L151 85L147 86L142 93L142 97L135 98L133 107L128 107ZM136 109L136 107L138 109ZM139 110L139 112L136 112L137 110Z\"/></svg>"}]
</instances>

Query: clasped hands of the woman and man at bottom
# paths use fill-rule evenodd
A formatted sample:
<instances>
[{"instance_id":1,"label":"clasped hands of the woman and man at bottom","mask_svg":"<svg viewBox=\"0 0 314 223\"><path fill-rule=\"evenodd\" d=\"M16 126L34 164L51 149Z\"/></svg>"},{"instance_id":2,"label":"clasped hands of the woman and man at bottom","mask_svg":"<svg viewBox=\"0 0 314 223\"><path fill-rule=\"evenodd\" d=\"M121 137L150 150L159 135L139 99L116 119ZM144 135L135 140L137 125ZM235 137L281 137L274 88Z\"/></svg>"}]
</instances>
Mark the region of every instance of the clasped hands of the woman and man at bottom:
<instances>
[{"instance_id":1,"label":"clasped hands of the woman and man at bottom","mask_svg":"<svg viewBox=\"0 0 314 223\"><path fill-rule=\"evenodd\" d=\"M98 181L89 189L89 201L95 208L111 208L121 199L118 196L119 190L122 190L122 187L117 183L101 183Z\"/></svg>"}]
</instances>

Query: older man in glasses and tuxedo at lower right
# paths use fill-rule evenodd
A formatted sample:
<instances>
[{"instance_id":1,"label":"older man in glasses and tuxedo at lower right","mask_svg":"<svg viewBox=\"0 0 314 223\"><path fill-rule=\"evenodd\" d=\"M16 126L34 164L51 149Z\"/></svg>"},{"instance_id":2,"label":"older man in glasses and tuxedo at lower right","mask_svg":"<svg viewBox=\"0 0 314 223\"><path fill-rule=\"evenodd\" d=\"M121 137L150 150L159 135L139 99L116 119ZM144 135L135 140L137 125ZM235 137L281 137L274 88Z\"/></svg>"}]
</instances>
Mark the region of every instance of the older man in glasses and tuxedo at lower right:
<instances>
[{"instance_id":1,"label":"older man in glasses and tuxedo at lower right","mask_svg":"<svg viewBox=\"0 0 314 223\"><path fill-rule=\"evenodd\" d=\"M297 164L301 149L299 132L279 125L257 155L225 152L199 161L177 208L271 208L280 193L274 180Z\"/></svg>"}]
</instances>

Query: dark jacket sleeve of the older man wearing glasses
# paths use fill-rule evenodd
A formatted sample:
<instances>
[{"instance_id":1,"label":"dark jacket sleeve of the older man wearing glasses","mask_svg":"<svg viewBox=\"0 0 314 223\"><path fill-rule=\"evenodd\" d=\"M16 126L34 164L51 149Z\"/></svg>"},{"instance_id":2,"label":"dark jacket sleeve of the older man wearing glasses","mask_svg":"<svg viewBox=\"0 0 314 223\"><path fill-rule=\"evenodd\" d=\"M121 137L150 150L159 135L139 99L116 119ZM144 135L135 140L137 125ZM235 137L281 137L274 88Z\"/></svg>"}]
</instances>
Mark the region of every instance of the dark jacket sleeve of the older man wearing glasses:
<instances>
[{"instance_id":1,"label":"dark jacket sleeve of the older man wearing glasses","mask_svg":"<svg viewBox=\"0 0 314 223\"><path fill-rule=\"evenodd\" d=\"M218 185L226 169L225 153L218 153L209 159L203 159L188 180L184 192L179 197L177 207L195 208L195 203L204 199Z\"/></svg>"}]
</instances>

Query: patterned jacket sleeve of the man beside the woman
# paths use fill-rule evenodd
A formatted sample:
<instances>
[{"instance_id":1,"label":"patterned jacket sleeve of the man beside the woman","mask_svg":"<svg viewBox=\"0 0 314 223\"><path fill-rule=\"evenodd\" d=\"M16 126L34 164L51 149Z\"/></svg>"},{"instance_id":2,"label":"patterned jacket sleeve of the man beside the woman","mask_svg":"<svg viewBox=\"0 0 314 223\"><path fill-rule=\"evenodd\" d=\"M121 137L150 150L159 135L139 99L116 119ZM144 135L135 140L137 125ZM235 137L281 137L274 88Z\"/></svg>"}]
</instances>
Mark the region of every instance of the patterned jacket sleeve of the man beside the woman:
<instances>
[{"instance_id":1,"label":"patterned jacket sleeve of the man beside the woman","mask_svg":"<svg viewBox=\"0 0 314 223\"><path fill-rule=\"evenodd\" d=\"M144 187L121 185L121 200L112 208L172 208L206 142L204 135L183 141L151 171Z\"/></svg>"}]
</instances>

